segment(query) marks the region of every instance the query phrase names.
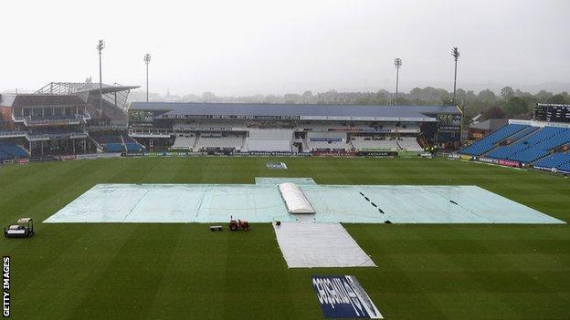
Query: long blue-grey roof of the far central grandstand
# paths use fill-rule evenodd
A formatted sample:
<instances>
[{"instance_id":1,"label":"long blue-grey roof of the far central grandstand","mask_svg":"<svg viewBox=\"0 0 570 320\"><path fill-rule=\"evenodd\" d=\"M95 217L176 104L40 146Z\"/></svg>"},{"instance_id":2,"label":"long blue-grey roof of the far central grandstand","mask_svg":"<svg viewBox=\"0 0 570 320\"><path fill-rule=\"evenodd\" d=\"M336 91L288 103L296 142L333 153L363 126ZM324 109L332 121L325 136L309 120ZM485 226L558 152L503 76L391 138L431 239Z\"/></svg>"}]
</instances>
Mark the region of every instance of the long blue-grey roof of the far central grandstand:
<instances>
[{"instance_id":1,"label":"long blue-grey roof of the far central grandstand","mask_svg":"<svg viewBox=\"0 0 570 320\"><path fill-rule=\"evenodd\" d=\"M435 121L434 115L460 114L456 106L363 106L321 104L132 102L130 110L165 111L158 118L245 116L282 119L379 119Z\"/></svg>"}]
</instances>

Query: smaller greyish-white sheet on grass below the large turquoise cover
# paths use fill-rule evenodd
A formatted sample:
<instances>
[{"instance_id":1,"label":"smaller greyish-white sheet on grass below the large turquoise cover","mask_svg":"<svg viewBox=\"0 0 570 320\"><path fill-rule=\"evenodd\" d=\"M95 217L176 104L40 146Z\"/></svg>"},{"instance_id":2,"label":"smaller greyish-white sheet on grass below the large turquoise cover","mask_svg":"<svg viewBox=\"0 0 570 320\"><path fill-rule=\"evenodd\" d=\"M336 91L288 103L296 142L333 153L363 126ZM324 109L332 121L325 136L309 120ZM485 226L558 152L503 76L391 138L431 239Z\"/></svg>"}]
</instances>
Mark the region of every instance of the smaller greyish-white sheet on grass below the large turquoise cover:
<instances>
[{"instance_id":1,"label":"smaller greyish-white sheet on grass below the large turquoise cover","mask_svg":"<svg viewBox=\"0 0 570 320\"><path fill-rule=\"evenodd\" d=\"M376 266L341 223L282 222L273 227L290 268Z\"/></svg>"}]
</instances>

